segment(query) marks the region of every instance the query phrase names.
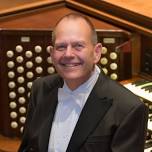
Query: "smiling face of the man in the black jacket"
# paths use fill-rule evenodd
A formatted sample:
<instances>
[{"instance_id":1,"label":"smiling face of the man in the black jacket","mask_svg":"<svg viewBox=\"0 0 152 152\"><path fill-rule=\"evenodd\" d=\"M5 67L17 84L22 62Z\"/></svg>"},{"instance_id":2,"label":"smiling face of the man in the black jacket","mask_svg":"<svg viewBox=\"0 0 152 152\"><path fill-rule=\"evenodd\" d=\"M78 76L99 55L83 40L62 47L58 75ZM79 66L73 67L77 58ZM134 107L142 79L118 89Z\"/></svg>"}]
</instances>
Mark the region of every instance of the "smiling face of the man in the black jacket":
<instances>
[{"instance_id":1,"label":"smiling face of the man in the black jacket","mask_svg":"<svg viewBox=\"0 0 152 152\"><path fill-rule=\"evenodd\" d=\"M93 45L90 27L83 19L62 20L56 27L55 37L51 52L53 64L74 89L90 77L100 59L101 45Z\"/></svg>"}]
</instances>

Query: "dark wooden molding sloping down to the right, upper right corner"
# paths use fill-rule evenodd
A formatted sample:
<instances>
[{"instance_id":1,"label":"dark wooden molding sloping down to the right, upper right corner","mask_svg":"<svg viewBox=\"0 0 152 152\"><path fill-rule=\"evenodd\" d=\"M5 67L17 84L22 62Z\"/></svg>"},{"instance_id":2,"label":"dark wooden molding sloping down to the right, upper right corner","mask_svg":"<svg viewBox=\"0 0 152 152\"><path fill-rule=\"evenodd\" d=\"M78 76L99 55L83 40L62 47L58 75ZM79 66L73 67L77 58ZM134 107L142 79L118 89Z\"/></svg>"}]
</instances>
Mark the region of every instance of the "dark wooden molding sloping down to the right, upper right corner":
<instances>
[{"instance_id":1,"label":"dark wooden molding sloping down to the right, upper right corner","mask_svg":"<svg viewBox=\"0 0 152 152\"><path fill-rule=\"evenodd\" d=\"M106 0L67 0L69 7L79 8L84 13L92 14L101 20L134 32L152 35L151 17L138 14L133 10L107 2ZM124 0L125 2L125 0ZM127 3L127 0L126 0ZM144 5L143 1L143 5ZM140 10L140 9L139 9Z\"/></svg>"}]
</instances>

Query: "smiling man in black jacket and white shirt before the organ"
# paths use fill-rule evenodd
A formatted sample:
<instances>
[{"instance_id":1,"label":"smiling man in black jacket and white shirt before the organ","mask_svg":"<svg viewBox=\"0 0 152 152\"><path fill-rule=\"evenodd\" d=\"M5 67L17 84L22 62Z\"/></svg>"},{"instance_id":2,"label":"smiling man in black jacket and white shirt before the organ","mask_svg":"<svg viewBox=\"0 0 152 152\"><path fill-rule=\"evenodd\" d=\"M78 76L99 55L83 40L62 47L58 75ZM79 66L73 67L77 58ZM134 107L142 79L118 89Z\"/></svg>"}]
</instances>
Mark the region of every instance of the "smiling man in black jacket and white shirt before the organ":
<instances>
[{"instance_id":1,"label":"smiling man in black jacket and white shirt before the organ","mask_svg":"<svg viewBox=\"0 0 152 152\"><path fill-rule=\"evenodd\" d=\"M97 66L93 24L68 14L52 41L58 74L33 83L19 152L143 152L147 108Z\"/></svg>"}]
</instances>

